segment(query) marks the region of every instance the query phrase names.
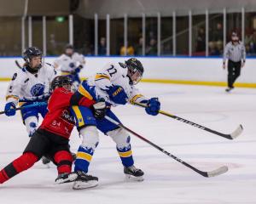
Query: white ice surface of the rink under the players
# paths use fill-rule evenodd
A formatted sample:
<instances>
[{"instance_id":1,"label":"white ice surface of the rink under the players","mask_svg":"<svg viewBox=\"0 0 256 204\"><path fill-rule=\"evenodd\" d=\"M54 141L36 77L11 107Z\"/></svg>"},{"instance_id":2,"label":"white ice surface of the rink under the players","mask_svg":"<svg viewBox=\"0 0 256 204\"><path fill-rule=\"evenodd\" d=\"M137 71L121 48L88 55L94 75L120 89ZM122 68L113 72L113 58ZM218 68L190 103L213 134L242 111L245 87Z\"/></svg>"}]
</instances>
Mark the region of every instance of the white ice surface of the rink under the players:
<instances>
[{"instance_id":1,"label":"white ice surface of the rink under the players","mask_svg":"<svg viewBox=\"0 0 256 204\"><path fill-rule=\"evenodd\" d=\"M0 83L1 110L7 82ZM90 165L90 174L99 185L90 190L72 190L72 184L55 184L56 168L41 161L5 184L0 185L0 204L255 204L256 203L256 90L174 84L138 84L144 95L157 96L161 109L222 133L244 127L235 140L177 122L166 116L148 116L132 105L113 111L125 126L160 145L173 155L204 171L227 165L229 171L215 178L204 178L164 155L149 144L131 136L137 167L145 180L126 182L123 167L111 139L101 134L100 144ZM0 116L0 167L20 156L28 137L20 113ZM80 139L76 130L71 139L76 151Z\"/></svg>"}]
</instances>

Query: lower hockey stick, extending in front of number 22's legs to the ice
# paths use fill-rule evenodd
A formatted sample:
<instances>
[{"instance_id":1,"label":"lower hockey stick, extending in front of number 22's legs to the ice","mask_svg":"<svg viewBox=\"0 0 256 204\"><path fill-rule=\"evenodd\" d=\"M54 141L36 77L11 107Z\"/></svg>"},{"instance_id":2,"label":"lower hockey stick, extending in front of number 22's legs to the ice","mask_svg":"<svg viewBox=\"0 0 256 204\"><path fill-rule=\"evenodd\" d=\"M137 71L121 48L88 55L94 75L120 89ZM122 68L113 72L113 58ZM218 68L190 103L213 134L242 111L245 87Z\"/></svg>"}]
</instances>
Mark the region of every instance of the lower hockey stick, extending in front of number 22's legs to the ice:
<instances>
[{"instance_id":1,"label":"lower hockey stick, extending in front of number 22's legs to the ice","mask_svg":"<svg viewBox=\"0 0 256 204\"><path fill-rule=\"evenodd\" d=\"M133 135L137 136L137 138L142 139L144 142L154 146L154 148L156 148L157 150L160 150L161 152L163 152L164 154L166 154L167 156L172 157L172 159L182 163L184 166L189 167L190 169L192 169L193 171L195 171L196 173L199 173L201 176L203 177L215 177L218 176L220 174L226 173L229 169L227 166L223 166L223 167L218 167L217 169L211 171L211 172L202 172L201 170L197 169L196 167L193 167L191 165L189 165L187 162L177 158L177 156L172 155L171 153L169 153L168 151L162 149L160 146L154 144L153 142L149 141L148 139L143 138L143 136L139 135L138 133L135 133L134 131L132 131L130 128L125 127L123 124L114 121L112 118L110 118L109 116L105 116L105 118L109 121L109 122L113 122L113 124L119 126L119 127L123 127L126 131L128 131L129 133L132 133Z\"/></svg>"}]
</instances>

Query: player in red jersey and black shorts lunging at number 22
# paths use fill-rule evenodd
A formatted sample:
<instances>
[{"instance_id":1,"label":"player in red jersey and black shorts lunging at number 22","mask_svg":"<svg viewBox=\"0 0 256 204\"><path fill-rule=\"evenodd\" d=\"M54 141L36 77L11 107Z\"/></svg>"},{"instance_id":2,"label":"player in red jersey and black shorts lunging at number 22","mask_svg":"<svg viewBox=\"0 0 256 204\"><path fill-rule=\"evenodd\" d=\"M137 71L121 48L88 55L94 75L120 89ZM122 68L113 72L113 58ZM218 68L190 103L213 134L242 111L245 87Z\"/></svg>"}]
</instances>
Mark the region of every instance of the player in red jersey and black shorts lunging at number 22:
<instances>
[{"instance_id":1,"label":"player in red jersey and black shorts lunging at number 22","mask_svg":"<svg viewBox=\"0 0 256 204\"><path fill-rule=\"evenodd\" d=\"M32 167L42 156L49 156L57 166L58 177L55 181L59 184L75 179L97 182L96 177L86 175L86 178L81 178L78 173L71 173L73 157L68 142L75 121L69 108L71 105L90 107L95 116L100 118L105 115L105 102L96 103L94 100L76 97L72 92L72 81L69 77L55 77L51 89L53 93L49 98L49 112L26 145L22 156L0 171L0 184Z\"/></svg>"}]
</instances>

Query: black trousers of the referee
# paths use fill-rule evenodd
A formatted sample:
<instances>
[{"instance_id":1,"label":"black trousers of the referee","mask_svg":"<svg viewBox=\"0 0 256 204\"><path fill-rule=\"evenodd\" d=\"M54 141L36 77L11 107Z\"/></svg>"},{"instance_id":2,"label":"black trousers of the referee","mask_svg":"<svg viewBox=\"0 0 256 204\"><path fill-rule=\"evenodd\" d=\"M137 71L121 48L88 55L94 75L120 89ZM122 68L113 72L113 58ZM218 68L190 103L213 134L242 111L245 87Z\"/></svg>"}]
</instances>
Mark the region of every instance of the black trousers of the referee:
<instances>
[{"instance_id":1,"label":"black trousers of the referee","mask_svg":"<svg viewBox=\"0 0 256 204\"><path fill-rule=\"evenodd\" d=\"M228 62L228 87L233 88L234 82L240 76L241 72L241 61L234 62L229 60Z\"/></svg>"}]
</instances>

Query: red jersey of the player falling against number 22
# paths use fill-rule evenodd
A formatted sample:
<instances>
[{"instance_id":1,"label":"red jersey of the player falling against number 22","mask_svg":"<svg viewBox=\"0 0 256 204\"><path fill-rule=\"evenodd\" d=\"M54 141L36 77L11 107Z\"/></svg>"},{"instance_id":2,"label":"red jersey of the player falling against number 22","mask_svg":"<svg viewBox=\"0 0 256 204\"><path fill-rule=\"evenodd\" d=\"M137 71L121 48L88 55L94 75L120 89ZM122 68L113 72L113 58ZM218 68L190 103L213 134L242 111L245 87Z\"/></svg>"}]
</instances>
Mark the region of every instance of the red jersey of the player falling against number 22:
<instances>
[{"instance_id":1,"label":"red jersey of the player falling against number 22","mask_svg":"<svg viewBox=\"0 0 256 204\"><path fill-rule=\"evenodd\" d=\"M53 94L51 94L49 98L47 107L49 112L44 117L44 121L39 128L69 139L75 125L73 116L69 111L70 105L74 105L71 104L72 100L73 93L71 91L66 88L55 88ZM94 100L86 98L80 98L76 101L77 105L86 107L95 104Z\"/></svg>"}]
</instances>

